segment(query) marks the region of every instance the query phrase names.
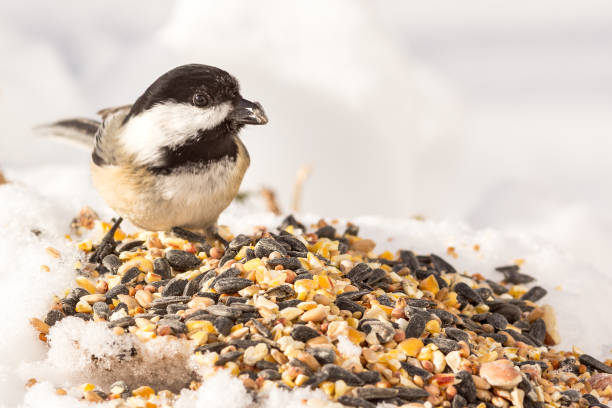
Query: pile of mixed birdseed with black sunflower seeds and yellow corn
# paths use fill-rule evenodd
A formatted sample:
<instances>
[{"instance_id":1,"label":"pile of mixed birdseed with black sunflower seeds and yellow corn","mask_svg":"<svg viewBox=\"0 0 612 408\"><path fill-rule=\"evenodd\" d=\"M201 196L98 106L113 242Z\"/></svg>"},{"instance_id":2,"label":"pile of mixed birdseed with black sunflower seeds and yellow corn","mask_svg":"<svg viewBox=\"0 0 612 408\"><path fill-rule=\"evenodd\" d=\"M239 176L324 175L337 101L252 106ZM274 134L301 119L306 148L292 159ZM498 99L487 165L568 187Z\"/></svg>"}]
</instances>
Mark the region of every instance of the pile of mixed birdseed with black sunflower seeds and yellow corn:
<instances>
[{"instance_id":1,"label":"pile of mixed birdseed with black sunflower seeds and yellow corn","mask_svg":"<svg viewBox=\"0 0 612 408\"><path fill-rule=\"evenodd\" d=\"M99 222L83 213L74 228ZM120 222L102 223L96 245L79 244L78 287L32 319L43 341L72 319L107 325L124 345L108 361L92 355L92 368L117 381L84 384L86 401L171 406L221 369L255 401L270 387L318 388L329 405L356 407L605 407L612 398L612 362L550 349L554 313L535 303L546 291L527 290L533 279L517 265L498 268L495 283L435 254L374 255L355 225L340 234L320 222L307 233L293 217L252 236L222 231L230 242L214 247L182 230L126 236ZM160 340L192 353L173 382L130 376L125 367L146 365L140 354Z\"/></svg>"}]
</instances>

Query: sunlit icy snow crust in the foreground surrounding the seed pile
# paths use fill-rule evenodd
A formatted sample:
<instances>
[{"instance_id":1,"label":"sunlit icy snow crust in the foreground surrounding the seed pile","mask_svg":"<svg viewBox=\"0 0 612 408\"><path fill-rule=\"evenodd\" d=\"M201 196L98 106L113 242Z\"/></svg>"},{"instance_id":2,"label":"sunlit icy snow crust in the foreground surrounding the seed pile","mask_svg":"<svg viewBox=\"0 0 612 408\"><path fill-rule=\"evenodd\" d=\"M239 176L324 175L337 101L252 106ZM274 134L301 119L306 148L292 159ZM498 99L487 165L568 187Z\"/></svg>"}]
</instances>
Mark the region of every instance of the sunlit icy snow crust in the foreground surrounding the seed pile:
<instances>
[{"instance_id":1,"label":"sunlit icy snow crust in the foreground surrounding the seed pile","mask_svg":"<svg viewBox=\"0 0 612 408\"><path fill-rule=\"evenodd\" d=\"M64 177L46 177L48 180L40 188L45 174ZM70 220L87 203L93 203L102 217L108 218L112 213L100 203L88 180L76 168L9 171L7 176L17 181L0 186L3 203L0 212L3 233L0 238L0 287L3 288L0 395L3 406L72 407L79 404L77 387L86 382L106 387L118 379L136 384L146 378L151 385L164 384L164 388L170 389L188 384L193 375L188 343L157 339L141 345L130 336L118 339L103 324L85 323L76 318L66 318L52 328L49 349L38 340L29 318L44 316L52 296L62 295L66 288L74 286L73 264L79 254L74 242L64 236ZM67 199L67 195L73 198ZM309 223L318 217L302 215L299 219ZM612 282L610 277L586 263L527 236L491 229L474 230L458 223L380 217L351 221L360 226L361 236L377 242L375 251L409 248L417 253L438 253L460 271L478 272L496 280L501 275L494 271L495 266L524 259L523 271L549 291L545 302L552 304L557 312L563 339L558 347L569 348L575 344L595 356L608 356L612 348L612 326L606 322L610 304L606 296ZM251 232L255 225L276 226L279 218L264 213L254 203L232 205L220 222L237 234ZM476 244L480 246L478 251L474 250ZM48 246L58 249L61 258L49 256L45 252ZM446 255L449 246L455 248L457 259ZM51 271L41 271L43 264ZM75 341L78 349L74 347ZM128 355L132 347L138 348L138 358L125 362L118 359L120 354ZM353 352L349 345L343 348L343 353ZM91 363L91 355L99 357L98 363ZM39 382L26 389L24 384L29 378ZM66 388L69 395L55 395L56 387ZM267 398L258 402L268 407L297 407L303 406L303 399L311 397L314 398L311 404L324 400L322 394L313 391L271 390ZM196 392L184 390L177 406L246 407L252 402L238 380L220 374Z\"/></svg>"}]
</instances>

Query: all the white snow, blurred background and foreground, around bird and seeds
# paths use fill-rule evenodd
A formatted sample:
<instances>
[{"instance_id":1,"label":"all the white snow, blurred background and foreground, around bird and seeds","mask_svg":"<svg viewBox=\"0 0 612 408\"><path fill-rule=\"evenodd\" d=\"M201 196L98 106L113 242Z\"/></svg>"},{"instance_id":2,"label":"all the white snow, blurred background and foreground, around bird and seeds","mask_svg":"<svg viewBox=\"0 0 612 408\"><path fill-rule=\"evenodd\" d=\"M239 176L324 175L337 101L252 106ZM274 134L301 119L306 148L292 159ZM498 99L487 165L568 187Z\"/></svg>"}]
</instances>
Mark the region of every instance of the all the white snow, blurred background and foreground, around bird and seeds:
<instances>
[{"instance_id":1,"label":"all the white snow, blurred background and foreground, around bird and seeds","mask_svg":"<svg viewBox=\"0 0 612 408\"><path fill-rule=\"evenodd\" d=\"M588 4L2 3L0 167L13 183L0 186L0 406L75 406L55 387L107 383L83 372L83 358L116 352L103 348L105 328L73 319L53 328L47 352L28 324L74 282L72 217L85 205L113 215L91 186L88 155L30 129L133 101L188 62L235 74L270 117L245 130L245 190L273 187L286 209L296 172L311 164L303 203L311 215L301 220L348 218L380 251L449 258L453 246L459 270L498 280L495 266L524 259L557 311L559 348L609 358L612 7ZM221 223L234 233L276 225L262 210L233 206ZM425 221L410 218L417 214ZM81 354L68 339L86 346ZM185 358L180 345L163 349ZM26 390L31 377L39 383ZM215 406L219 395L250 402L221 375L184 391L180 406ZM303 398L272 390L266 403L303 406Z\"/></svg>"}]
</instances>

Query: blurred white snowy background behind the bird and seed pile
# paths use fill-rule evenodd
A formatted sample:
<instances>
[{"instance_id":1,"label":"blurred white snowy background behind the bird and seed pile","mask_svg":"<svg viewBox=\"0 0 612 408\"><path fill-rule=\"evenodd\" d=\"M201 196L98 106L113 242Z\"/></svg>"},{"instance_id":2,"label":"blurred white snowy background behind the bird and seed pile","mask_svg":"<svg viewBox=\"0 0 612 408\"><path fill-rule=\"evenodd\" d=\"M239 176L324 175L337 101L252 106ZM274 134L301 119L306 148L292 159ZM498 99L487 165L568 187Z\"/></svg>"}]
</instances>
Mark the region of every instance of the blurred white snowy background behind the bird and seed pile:
<instances>
[{"instance_id":1,"label":"blurred white snowy background behind the bird and seed pile","mask_svg":"<svg viewBox=\"0 0 612 408\"><path fill-rule=\"evenodd\" d=\"M611 23L607 0L2 2L0 167L86 179L87 153L30 129L217 65L270 117L244 189L287 210L312 165L304 211L527 233L605 270Z\"/></svg>"}]
</instances>

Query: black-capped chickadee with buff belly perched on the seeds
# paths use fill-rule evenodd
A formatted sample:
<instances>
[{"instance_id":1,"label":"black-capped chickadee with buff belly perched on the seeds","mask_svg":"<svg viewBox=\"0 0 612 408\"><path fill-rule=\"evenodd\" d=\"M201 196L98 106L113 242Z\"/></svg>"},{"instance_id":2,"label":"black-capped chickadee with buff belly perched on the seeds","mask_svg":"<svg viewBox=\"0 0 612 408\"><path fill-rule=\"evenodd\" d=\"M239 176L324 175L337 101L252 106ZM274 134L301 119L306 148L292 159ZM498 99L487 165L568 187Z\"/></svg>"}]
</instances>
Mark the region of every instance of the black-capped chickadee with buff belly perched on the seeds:
<instances>
[{"instance_id":1,"label":"black-capped chickadee with buff belly perched on the seeds","mask_svg":"<svg viewBox=\"0 0 612 408\"><path fill-rule=\"evenodd\" d=\"M196 231L218 239L217 219L236 197L250 156L239 134L268 123L237 79L209 65L176 67L131 105L103 109L101 121L38 127L91 149L94 187L121 218L148 231Z\"/></svg>"}]
</instances>

